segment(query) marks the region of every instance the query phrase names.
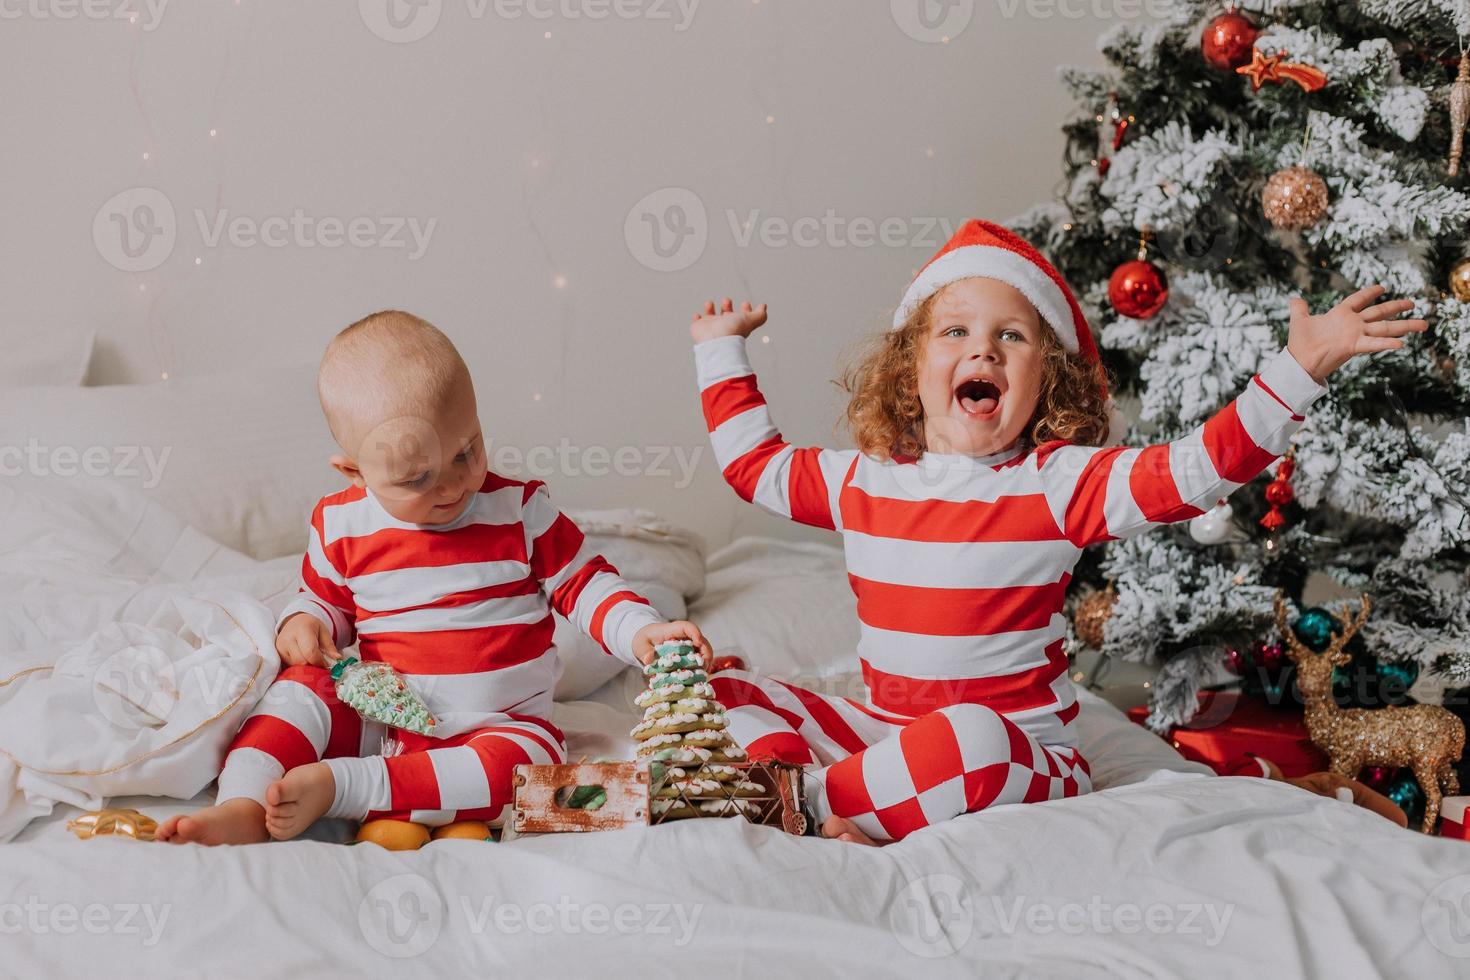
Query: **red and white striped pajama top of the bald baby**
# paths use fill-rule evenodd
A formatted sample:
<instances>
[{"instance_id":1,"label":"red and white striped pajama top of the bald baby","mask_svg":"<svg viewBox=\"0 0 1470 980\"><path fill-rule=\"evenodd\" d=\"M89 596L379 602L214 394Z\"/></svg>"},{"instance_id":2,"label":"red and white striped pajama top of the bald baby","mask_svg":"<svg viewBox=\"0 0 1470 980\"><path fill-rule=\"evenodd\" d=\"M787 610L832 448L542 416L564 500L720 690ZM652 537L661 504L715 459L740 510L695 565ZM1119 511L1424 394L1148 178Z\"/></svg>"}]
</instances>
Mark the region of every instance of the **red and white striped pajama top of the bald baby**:
<instances>
[{"instance_id":1,"label":"red and white striped pajama top of the bald baby","mask_svg":"<svg viewBox=\"0 0 1470 980\"><path fill-rule=\"evenodd\" d=\"M309 613L338 649L404 674L448 738L506 714L547 718L562 663L551 610L637 666L634 635L663 621L541 482L487 473L447 525L394 519L363 488L312 511L303 588L282 613Z\"/></svg>"}]
</instances>

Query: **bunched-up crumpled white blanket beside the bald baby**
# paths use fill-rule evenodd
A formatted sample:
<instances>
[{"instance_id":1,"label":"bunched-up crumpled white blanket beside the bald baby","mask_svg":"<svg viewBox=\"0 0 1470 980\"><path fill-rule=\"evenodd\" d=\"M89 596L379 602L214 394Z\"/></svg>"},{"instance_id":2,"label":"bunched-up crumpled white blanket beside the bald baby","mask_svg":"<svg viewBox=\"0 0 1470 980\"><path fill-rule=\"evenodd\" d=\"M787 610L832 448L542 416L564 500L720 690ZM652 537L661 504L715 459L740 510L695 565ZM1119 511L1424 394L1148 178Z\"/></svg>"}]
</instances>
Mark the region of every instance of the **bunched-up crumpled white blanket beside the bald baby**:
<instances>
[{"instance_id":1,"label":"bunched-up crumpled white blanket beside the bald baby","mask_svg":"<svg viewBox=\"0 0 1470 980\"><path fill-rule=\"evenodd\" d=\"M279 667L275 617L240 592L150 595L157 608L147 624L109 623L66 648L0 654L0 840L57 802L188 799L219 774Z\"/></svg>"}]
</instances>

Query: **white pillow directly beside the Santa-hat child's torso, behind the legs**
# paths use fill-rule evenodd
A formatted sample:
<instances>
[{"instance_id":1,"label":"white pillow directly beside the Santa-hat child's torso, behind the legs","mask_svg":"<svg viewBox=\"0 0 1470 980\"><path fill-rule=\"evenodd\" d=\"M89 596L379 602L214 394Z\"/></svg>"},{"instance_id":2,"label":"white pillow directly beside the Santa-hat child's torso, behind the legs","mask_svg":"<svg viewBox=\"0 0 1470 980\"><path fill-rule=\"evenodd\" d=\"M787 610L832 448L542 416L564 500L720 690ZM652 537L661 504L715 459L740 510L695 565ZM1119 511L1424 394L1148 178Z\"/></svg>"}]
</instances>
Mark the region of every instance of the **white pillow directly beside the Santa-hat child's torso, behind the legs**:
<instances>
[{"instance_id":1,"label":"white pillow directly beside the Santa-hat child's torso, behind the legs","mask_svg":"<svg viewBox=\"0 0 1470 980\"><path fill-rule=\"evenodd\" d=\"M741 538L710 555L689 620L716 654L828 693L861 696L857 599L842 550Z\"/></svg>"}]
</instances>

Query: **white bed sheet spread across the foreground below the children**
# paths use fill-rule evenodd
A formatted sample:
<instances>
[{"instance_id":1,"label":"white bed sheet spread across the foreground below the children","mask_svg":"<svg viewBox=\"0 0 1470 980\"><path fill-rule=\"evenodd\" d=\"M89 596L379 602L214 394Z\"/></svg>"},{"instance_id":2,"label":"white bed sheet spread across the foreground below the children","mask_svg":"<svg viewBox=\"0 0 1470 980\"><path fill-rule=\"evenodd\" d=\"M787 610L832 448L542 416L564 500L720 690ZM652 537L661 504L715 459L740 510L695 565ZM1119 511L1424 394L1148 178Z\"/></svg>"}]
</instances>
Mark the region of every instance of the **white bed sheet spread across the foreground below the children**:
<instances>
[{"instance_id":1,"label":"white bed sheet spread across the foreground below the children","mask_svg":"<svg viewBox=\"0 0 1470 980\"><path fill-rule=\"evenodd\" d=\"M193 564L281 588L279 569ZM98 598L87 616L110 614L115 589L82 585ZM65 611L46 589L29 598L34 621L10 604L0 636ZM575 757L626 752L629 683L559 705ZM1079 717L1098 792L882 849L716 820L400 854L328 842L347 827L323 823L322 839L196 848L78 840L59 807L0 846L0 974L1470 973L1464 843L1207 776L1091 695ZM162 818L207 801L112 802Z\"/></svg>"}]
</instances>

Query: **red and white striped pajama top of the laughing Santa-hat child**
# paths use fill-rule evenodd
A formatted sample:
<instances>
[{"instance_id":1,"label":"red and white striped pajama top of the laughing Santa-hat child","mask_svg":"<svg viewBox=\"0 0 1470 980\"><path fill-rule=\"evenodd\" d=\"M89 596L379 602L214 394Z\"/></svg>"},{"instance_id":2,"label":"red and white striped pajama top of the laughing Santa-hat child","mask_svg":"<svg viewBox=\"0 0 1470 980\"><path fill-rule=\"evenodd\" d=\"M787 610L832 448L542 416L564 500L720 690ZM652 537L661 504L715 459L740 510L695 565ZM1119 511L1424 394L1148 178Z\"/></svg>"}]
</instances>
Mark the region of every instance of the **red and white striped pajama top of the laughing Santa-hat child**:
<instances>
[{"instance_id":1,"label":"red and white striped pajama top of the laughing Santa-hat child","mask_svg":"<svg viewBox=\"0 0 1470 980\"><path fill-rule=\"evenodd\" d=\"M982 704L1041 745L1076 745L1063 597L1083 548L1201 514L1282 455L1327 389L1282 350L1241 395L1164 445L1050 442L881 461L781 438L745 341L695 345L704 417L747 501L842 535L867 707Z\"/></svg>"}]
</instances>

